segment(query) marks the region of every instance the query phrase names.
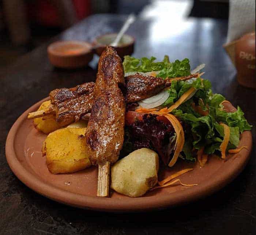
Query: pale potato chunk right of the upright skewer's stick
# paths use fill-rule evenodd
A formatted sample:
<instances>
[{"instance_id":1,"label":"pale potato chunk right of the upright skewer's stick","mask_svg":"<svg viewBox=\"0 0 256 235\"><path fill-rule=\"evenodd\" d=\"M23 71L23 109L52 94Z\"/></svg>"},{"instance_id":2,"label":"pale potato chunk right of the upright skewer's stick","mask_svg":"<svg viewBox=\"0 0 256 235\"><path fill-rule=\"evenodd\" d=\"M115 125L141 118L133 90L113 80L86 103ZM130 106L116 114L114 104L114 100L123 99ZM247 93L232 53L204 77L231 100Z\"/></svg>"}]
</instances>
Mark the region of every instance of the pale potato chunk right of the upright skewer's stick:
<instances>
[{"instance_id":1,"label":"pale potato chunk right of the upright skewer's stick","mask_svg":"<svg viewBox=\"0 0 256 235\"><path fill-rule=\"evenodd\" d=\"M129 197L140 197L157 184L158 154L142 148L111 167L111 188Z\"/></svg>"}]
</instances>

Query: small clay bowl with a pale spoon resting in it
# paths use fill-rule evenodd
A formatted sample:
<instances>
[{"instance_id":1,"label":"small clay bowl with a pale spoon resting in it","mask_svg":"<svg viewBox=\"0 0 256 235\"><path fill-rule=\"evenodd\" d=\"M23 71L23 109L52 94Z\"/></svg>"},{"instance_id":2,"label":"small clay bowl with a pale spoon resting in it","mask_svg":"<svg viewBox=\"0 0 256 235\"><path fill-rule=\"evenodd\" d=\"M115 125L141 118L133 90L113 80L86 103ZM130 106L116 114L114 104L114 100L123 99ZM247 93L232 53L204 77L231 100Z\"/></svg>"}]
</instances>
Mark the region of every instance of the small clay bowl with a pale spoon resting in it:
<instances>
[{"instance_id":1,"label":"small clay bowl with a pale spoon resting in it","mask_svg":"<svg viewBox=\"0 0 256 235\"><path fill-rule=\"evenodd\" d=\"M96 54L100 56L102 51L107 45L114 41L116 36L117 34L105 34L95 38L93 45L95 47ZM124 34L117 47L114 48L116 49L117 54L123 59L125 55L131 55L133 53L134 43L135 39L132 36Z\"/></svg>"}]
</instances>

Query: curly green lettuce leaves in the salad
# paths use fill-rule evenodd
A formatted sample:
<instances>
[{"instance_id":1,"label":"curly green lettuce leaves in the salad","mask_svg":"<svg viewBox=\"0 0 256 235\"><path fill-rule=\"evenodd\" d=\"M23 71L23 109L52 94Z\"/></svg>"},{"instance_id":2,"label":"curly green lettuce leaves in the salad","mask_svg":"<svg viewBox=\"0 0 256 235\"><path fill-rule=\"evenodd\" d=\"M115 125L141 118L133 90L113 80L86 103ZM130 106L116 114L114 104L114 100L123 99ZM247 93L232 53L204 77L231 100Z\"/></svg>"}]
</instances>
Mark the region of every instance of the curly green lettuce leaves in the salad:
<instances>
[{"instance_id":1,"label":"curly green lettuce leaves in the salad","mask_svg":"<svg viewBox=\"0 0 256 235\"><path fill-rule=\"evenodd\" d=\"M123 65L125 72L150 72L158 71L157 77L174 78L190 74L189 60L175 60L170 62L168 56L161 62L155 62L155 57L136 59L125 56ZM168 89L169 97L162 104L163 107L173 105L186 91L196 89L196 93L182 103L172 113L181 122L189 127L185 128L185 144L180 157L188 161L195 161L192 149L204 148L206 154L219 154L220 145L224 137L224 129L220 123L225 123L230 128L230 139L227 149L236 148L239 145L240 133L251 130L244 117L244 113L238 106L237 111L230 113L223 110L222 102L225 97L221 94L212 94L211 83L208 80L197 78L192 81L173 81ZM194 107L200 107L205 111L198 112Z\"/></svg>"}]
</instances>

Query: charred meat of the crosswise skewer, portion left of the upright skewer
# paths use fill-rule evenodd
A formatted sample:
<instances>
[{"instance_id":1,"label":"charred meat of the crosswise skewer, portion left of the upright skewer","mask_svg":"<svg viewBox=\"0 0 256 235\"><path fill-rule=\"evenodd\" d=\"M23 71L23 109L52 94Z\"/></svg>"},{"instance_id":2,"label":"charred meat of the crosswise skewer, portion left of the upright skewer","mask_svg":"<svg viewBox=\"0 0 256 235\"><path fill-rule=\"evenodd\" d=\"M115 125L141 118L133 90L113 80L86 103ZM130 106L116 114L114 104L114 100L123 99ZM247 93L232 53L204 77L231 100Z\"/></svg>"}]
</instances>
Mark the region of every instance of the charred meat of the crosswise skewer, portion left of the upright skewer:
<instances>
[{"instance_id":1,"label":"charred meat of the crosswise skewer, portion left of the upright skewer","mask_svg":"<svg viewBox=\"0 0 256 235\"><path fill-rule=\"evenodd\" d=\"M94 82L50 92L50 100L56 112L56 121L63 126L78 121L91 112L94 100Z\"/></svg>"}]
</instances>

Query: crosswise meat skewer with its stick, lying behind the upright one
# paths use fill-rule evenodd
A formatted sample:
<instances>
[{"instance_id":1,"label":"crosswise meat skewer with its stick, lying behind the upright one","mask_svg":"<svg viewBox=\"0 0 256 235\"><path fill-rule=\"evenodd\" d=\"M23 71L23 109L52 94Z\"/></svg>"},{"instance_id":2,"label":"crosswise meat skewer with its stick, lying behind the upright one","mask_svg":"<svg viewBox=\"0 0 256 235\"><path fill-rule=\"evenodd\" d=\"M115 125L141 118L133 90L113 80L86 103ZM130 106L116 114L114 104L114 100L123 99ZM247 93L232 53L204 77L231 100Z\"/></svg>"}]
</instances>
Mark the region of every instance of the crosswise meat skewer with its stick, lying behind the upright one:
<instances>
[{"instance_id":1,"label":"crosswise meat skewer with its stick, lying behind the upright one","mask_svg":"<svg viewBox=\"0 0 256 235\"><path fill-rule=\"evenodd\" d=\"M133 103L158 94L169 87L174 80L188 80L198 77L199 74L191 74L186 77L162 79L153 76L135 74L125 77L125 103ZM88 82L67 89L55 89L50 92L51 105L46 110L29 113L28 118L38 118L47 115L56 115L56 121L65 126L79 119L87 120L85 116L91 112L94 99L95 83Z\"/></svg>"}]
</instances>

